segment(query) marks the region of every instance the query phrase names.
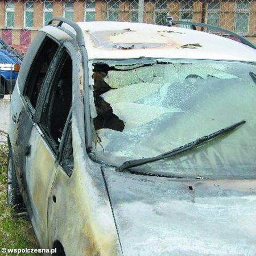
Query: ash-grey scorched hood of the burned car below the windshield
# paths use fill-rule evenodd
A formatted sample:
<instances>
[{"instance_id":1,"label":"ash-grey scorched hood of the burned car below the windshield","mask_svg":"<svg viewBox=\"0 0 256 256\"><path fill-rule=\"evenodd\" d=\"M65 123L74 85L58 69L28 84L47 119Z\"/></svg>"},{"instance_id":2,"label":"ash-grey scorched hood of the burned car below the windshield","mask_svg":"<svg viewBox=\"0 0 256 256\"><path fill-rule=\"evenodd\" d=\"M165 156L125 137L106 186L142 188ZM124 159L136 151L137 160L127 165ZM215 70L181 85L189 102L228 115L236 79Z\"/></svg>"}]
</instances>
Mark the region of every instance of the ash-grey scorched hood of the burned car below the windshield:
<instances>
[{"instance_id":1,"label":"ash-grey scorched hood of the burned car below the windshield","mask_svg":"<svg viewBox=\"0 0 256 256\"><path fill-rule=\"evenodd\" d=\"M124 255L256 255L256 180L103 172Z\"/></svg>"}]
</instances>

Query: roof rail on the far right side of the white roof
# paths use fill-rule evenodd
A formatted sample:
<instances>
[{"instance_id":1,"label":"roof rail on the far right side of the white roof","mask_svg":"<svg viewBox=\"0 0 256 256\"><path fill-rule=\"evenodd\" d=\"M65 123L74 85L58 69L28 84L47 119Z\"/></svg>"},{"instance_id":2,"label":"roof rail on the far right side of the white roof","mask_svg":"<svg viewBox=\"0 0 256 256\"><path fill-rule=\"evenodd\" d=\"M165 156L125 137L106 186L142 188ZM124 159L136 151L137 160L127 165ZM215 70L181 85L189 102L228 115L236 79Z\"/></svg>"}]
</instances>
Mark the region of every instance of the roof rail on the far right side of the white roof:
<instances>
[{"instance_id":1,"label":"roof rail on the far right side of the white roof","mask_svg":"<svg viewBox=\"0 0 256 256\"><path fill-rule=\"evenodd\" d=\"M205 24L205 23L189 22L189 21L184 21L184 20L174 20L174 18L172 18L172 17L168 17L167 20L168 20L168 22L165 25L169 26L169 27L176 25L176 24L182 24L182 25L190 25L193 28L193 30L196 30L196 27L205 27L205 28L210 28L211 30L221 31L226 34L236 36L236 38L240 39L241 43L246 44L247 46L250 46L250 47L256 49L255 44L251 43L245 37L233 32L233 31L226 30L225 28L222 28L222 27L216 27L216 26L212 26L209 24Z\"/></svg>"}]
</instances>

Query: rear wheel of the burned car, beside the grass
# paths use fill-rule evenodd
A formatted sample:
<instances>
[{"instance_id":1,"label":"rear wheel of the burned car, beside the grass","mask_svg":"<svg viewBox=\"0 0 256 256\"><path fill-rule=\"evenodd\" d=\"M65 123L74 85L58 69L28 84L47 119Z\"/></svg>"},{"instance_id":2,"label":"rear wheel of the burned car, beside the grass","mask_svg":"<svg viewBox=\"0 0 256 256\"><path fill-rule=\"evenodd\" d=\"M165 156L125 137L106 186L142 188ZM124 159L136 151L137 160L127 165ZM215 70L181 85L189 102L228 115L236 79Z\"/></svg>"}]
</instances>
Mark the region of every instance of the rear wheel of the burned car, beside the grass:
<instances>
[{"instance_id":1,"label":"rear wheel of the burned car, beside the grass","mask_svg":"<svg viewBox=\"0 0 256 256\"><path fill-rule=\"evenodd\" d=\"M7 204L16 210L23 208L22 195L19 192L18 180L13 168L13 162L9 153L7 166Z\"/></svg>"}]
</instances>

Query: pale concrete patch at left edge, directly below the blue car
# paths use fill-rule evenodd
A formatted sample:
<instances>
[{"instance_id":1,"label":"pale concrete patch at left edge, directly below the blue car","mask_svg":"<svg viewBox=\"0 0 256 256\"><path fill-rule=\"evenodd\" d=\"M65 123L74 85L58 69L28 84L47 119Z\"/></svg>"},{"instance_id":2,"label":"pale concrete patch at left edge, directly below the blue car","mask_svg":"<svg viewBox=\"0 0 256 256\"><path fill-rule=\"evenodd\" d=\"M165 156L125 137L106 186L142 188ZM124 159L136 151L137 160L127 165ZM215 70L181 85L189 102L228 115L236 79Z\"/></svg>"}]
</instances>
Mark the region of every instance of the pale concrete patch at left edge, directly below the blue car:
<instances>
[{"instance_id":1,"label":"pale concrete patch at left edge, directly below the blue car","mask_svg":"<svg viewBox=\"0 0 256 256\"><path fill-rule=\"evenodd\" d=\"M9 116L10 116L10 100L1 99L0 100L0 130L8 131L9 125ZM6 142L7 138L0 134L0 143Z\"/></svg>"}]
</instances>

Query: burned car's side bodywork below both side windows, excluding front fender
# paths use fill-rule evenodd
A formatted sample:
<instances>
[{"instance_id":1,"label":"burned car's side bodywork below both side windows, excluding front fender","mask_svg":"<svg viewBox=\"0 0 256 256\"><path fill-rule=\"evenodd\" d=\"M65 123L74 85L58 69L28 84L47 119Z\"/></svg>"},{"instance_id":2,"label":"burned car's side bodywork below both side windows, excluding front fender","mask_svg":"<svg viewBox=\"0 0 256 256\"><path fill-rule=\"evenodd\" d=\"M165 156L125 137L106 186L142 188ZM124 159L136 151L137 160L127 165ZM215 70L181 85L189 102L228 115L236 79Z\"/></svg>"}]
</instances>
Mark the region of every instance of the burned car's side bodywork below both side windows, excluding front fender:
<instances>
[{"instance_id":1,"label":"burned car's side bodywork below both side windows, excluding front fender","mask_svg":"<svg viewBox=\"0 0 256 256\"><path fill-rule=\"evenodd\" d=\"M47 205L55 158L32 122L15 87L11 101L10 142L20 192L42 247L48 247Z\"/></svg>"}]
</instances>

